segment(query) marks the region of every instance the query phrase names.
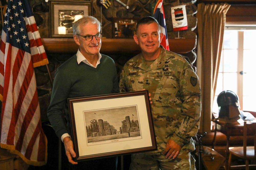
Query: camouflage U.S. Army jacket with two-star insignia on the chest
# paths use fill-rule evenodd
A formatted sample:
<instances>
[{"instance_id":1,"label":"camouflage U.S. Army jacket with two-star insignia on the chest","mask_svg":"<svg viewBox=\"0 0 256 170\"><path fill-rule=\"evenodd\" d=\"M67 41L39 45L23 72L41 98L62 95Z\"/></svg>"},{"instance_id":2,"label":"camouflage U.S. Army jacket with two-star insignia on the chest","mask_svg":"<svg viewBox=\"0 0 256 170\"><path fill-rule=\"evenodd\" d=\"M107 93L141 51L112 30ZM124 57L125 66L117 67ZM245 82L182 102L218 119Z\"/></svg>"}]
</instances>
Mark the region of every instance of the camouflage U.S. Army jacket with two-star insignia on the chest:
<instances>
[{"instance_id":1,"label":"camouflage U.S. Army jacket with two-star insignia on the chest","mask_svg":"<svg viewBox=\"0 0 256 170\"><path fill-rule=\"evenodd\" d=\"M126 62L120 76L120 92L146 89L151 93L151 110L158 151L162 154L170 138L182 146L180 153L195 150L201 113L199 80L186 57L165 50L148 66L138 54Z\"/></svg>"}]
</instances>

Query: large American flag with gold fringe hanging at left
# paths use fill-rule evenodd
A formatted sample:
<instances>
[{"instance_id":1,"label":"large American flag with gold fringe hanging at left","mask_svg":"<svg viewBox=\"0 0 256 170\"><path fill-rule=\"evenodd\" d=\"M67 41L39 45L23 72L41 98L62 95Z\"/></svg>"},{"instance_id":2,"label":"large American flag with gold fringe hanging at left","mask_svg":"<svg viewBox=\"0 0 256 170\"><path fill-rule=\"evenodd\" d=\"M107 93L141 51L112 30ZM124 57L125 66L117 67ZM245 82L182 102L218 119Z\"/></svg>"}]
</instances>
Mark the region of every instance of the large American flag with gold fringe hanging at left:
<instances>
[{"instance_id":1,"label":"large American flag with gold fringe hanging at left","mask_svg":"<svg viewBox=\"0 0 256 170\"><path fill-rule=\"evenodd\" d=\"M1 148L30 165L45 165L34 67L48 63L28 0L8 0L0 42Z\"/></svg>"}]
</instances>

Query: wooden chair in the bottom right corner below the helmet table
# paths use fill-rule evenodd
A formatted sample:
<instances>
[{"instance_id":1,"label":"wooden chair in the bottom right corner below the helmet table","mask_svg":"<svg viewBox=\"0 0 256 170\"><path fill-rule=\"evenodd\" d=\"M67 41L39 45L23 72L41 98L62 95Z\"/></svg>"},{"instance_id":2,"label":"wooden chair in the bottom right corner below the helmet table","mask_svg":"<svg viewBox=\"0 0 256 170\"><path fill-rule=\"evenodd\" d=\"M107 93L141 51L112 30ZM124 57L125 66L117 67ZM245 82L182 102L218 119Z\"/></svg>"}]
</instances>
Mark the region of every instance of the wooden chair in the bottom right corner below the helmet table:
<instances>
[{"instance_id":1,"label":"wooden chair in the bottom right corner below the helmet table","mask_svg":"<svg viewBox=\"0 0 256 170\"><path fill-rule=\"evenodd\" d=\"M253 132L254 133L254 146L247 146L247 132ZM246 165L242 165L246 167L246 170L249 170L249 160L256 160L256 122L244 122L244 127L243 127L243 146L241 147L229 147L229 168L230 167L241 167L241 165L237 166L230 166L231 160L232 160L232 155L236 155L241 159L244 159L246 161ZM255 166L256 165L250 165Z\"/></svg>"}]
</instances>

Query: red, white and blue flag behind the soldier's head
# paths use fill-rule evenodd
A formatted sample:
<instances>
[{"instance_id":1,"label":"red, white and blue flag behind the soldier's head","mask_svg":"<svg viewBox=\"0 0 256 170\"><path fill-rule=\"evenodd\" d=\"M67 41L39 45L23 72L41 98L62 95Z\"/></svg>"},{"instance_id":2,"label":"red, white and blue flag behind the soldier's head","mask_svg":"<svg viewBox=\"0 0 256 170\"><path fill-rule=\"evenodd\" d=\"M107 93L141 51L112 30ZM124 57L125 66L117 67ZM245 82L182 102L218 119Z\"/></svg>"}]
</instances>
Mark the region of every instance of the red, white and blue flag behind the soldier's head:
<instances>
[{"instance_id":1,"label":"red, white and blue flag behind the soldier's head","mask_svg":"<svg viewBox=\"0 0 256 170\"><path fill-rule=\"evenodd\" d=\"M169 49L168 37L167 37L167 29L164 17L164 7L163 7L163 0L158 0L154 9L154 16L153 16L160 25L160 30L164 34L163 40L160 43L166 50Z\"/></svg>"}]
</instances>

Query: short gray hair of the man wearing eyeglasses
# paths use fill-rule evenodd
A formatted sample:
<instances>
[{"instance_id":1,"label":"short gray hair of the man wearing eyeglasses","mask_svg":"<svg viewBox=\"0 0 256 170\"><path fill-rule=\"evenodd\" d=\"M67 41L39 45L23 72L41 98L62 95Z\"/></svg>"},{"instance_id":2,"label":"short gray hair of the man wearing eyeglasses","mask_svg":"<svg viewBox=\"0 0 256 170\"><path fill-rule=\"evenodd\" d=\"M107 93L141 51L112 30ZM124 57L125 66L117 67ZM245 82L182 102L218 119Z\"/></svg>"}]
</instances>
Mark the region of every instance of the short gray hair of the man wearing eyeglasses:
<instances>
[{"instance_id":1,"label":"short gray hair of the man wearing eyeglasses","mask_svg":"<svg viewBox=\"0 0 256 170\"><path fill-rule=\"evenodd\" d=\"M100 30L100 28L101 28L100 21L98 21L96 18L94 18L92 16L84 15L79 20L77 20L73 23L73 25L72 25L73 34L74 35L80 34L81 30L80 30L79 26L86 25L88 23L96 24L98 27L98 30Z\"/></svg>"}]
</instances>

